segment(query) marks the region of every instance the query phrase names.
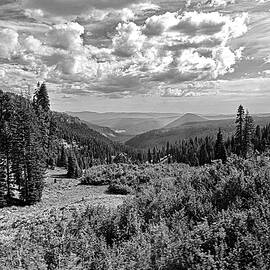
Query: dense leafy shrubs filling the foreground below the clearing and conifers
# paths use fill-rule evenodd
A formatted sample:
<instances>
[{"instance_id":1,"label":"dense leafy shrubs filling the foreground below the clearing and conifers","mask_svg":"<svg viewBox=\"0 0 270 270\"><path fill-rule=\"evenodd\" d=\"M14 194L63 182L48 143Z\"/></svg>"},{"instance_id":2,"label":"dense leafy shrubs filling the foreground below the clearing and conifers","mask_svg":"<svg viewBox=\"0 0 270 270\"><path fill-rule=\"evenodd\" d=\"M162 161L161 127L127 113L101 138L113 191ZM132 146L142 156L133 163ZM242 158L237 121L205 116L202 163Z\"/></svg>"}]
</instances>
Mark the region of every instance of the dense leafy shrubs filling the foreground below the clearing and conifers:
<instances>
[{"instance_id":1,"label":"dense leafy shrubs filling the foreground below the clearing and conifers","mask_svg":"<svg viewBox=\"0 0 270 270\"><path fill-rule=\"evenodd\" d=\"M6 269L270 269L268 157L179 166L117 210L26 220L0 243ZM140 170L138 169L140 173Z\"/></svg>"}]
</instances>

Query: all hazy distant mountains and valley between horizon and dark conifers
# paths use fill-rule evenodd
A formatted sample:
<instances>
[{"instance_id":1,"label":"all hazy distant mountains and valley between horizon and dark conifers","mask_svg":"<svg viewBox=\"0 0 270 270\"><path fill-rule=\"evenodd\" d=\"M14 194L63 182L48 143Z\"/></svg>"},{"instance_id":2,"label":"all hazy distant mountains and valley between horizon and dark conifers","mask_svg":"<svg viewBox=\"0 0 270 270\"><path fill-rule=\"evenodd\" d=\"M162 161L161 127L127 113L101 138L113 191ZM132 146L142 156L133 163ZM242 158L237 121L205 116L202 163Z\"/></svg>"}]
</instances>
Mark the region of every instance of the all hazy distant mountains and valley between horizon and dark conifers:
<instances>
[{"instance_id":1,"label":"all hazy distant mountains and valley between horizon and dark conifers","mask_svg":"<svg viewBox=\"0 0 270 270\"><path fill-rule=\"evenodd\" d=\"M189 137L216 135L222 128L225 136L232 134L235 128L235 115L203 115L186 113L96 113L68 112L80 118L91 129L101 133L112 141L126 143L135 148L148 148L174 143ZM266 125L270 122L270 113L253 115L255 124Z\"/></svg>"}]
</instances>

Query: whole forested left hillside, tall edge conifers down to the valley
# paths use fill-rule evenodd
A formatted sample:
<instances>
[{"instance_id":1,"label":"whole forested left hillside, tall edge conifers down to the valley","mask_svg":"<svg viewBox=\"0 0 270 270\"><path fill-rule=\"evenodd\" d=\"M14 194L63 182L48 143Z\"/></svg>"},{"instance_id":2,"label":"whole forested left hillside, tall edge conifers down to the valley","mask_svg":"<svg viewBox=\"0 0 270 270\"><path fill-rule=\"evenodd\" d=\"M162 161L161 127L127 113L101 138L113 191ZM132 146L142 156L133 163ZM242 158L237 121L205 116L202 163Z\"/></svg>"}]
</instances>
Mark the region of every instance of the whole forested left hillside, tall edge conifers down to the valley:
<instances>
[{"instance_id":1,"label":"whole forested left hillside, tall edge conifers down to the valley","mask_svg":"<svg viewBox=\"0 0 270 270\"><path fill-rule=\"evenodd\" d=\"M121 151L132 155L80 119L52 112L45 84L33 97L0 91L0 207L39 201L48 166L78 177Z\"/></svg>"}]
</instances>

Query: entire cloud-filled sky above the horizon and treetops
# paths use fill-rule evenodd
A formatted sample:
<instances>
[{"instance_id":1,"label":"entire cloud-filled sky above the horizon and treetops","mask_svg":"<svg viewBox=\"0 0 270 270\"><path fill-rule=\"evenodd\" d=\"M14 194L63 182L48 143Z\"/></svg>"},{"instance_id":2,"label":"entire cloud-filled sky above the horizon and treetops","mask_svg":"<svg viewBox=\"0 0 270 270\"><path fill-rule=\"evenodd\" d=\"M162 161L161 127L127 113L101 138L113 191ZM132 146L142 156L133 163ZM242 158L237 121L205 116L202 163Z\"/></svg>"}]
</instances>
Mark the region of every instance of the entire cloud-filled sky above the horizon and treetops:
<instances>
[{"instance_id":1,"label":"entire cloud-filled sky above the horizon and treetops","mask_svg":"<svg viewBox=\"0 0 270 270\"><path fill-rule=\"evenodd\" d=\"M270 112L269 0L0 0L0 89L52 109Z\"/></svg>"}]
</instances>

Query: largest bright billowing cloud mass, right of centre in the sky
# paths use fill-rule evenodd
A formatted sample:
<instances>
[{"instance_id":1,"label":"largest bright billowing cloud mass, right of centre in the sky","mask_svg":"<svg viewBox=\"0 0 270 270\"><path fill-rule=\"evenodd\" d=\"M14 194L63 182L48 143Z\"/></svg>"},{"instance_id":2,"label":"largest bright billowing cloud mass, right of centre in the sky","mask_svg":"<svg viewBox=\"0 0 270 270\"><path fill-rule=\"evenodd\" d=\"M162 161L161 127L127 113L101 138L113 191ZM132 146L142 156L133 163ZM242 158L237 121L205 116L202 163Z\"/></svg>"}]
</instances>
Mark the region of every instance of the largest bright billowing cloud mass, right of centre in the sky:
<instances>
[{"instance_id":1,"label":"largest bright billowing cloud mass, right of centre in the sky","mask_svg":"<svg viewBox=\"0 0 270 270\"><path fill-rule=\"evenodd\" d=\"M238 18L218 12L165 13L144 25L119 24L113 39L116 55L133 56L128 68L149 81L179 83L216 79L233 72L242 48L228 42L247 31L246 15Z\"/></svg>"}]
</instances>

